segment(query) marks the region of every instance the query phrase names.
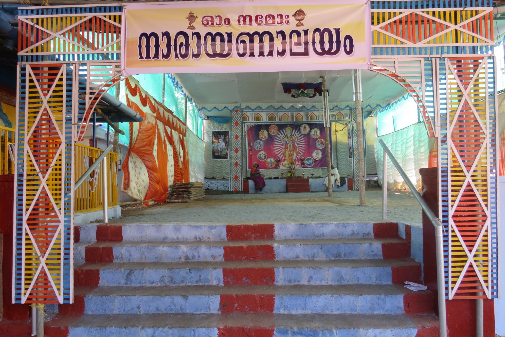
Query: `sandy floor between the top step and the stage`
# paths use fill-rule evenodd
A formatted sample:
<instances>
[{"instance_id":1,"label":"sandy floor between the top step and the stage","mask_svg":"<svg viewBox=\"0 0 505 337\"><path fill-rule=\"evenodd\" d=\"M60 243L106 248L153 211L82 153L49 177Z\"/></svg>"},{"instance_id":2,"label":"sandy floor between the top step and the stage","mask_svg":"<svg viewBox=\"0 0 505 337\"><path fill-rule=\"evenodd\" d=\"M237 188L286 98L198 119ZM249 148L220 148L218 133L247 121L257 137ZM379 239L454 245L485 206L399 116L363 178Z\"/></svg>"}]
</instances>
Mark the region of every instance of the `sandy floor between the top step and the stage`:
<instances>
[{"instance_id":1,"label":"sandy floor between the top step and the stage","mask_svg":"<svg viewBox=\"0 0 505 337\"><path fill-rule=\"evenodd\" d=\"M366 192L367 206L359 206L359 191L208 195L188 203L166 203L122 209L110 222L345 222L382 221L382 191ZM421 226L421 207L412 192L388 191L388 221Z\"/></svg>"}]
</instances>

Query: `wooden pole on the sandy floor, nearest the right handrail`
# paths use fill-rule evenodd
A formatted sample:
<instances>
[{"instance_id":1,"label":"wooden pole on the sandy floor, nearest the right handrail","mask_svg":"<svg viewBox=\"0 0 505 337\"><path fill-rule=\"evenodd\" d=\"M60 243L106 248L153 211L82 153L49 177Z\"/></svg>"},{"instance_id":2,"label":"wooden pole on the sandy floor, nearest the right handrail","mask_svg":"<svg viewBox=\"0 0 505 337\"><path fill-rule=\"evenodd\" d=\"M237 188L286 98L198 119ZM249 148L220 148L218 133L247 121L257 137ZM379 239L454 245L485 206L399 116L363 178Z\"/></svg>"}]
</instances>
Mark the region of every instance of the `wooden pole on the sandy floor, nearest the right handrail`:
<instances>
[{"instance_id":1,"label":"wooden pole on the sandy floor, nearest the right handrail","mask_svg":"<svg viewBox=\"0 0 505 337\"><path fill-rule=\"evenodd\" d=\"M361 110L361 70L352 71L354 76L354 93L356 102L356 138L358 138L358 166L359 166L359 188L360 188L360 206L366 206L365 196L365 153L363 151L363 111Z\"/></svg>"}]
</instances>

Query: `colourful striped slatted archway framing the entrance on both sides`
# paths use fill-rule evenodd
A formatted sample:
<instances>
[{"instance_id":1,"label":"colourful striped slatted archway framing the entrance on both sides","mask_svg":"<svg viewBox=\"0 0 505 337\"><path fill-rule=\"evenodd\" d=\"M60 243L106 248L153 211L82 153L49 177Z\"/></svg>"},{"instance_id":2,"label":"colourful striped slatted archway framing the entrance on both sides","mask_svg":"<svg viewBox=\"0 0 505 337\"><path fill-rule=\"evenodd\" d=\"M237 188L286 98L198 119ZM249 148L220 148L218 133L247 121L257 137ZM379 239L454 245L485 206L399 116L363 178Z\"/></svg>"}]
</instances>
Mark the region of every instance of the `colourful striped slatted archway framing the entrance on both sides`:
<instances>
[{"instance_id":1,"label":"colourful striped slatted archway framing the entrance on both sides","mask_svg":"<svg viewBox=\"0 0 505 337\"><path fill-rule=\"evenodd\" d=\"M492 2L369 4L373 69L407 88L429 135L437 137L446 298L496 298ZM16 303L73 303L74 142L84 134L99 94L120 79L122 10L19 10ZM230 161L238 162L241 111L231 117L232 151L237 150ZM232 170L232 185L240 190L241 164Z\"/></svg>"}]
</instances>

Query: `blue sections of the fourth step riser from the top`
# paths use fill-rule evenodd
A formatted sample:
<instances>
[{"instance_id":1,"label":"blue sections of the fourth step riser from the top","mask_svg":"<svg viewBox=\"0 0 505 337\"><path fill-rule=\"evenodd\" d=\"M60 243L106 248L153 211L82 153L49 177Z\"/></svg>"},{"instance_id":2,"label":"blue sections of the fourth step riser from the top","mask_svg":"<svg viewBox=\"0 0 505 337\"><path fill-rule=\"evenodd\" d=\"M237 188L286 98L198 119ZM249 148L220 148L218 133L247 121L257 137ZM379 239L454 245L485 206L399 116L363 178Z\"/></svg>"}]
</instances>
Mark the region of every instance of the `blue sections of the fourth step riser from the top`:
<instances>
[{"instance_id":1,"label":"blue sections of the fourth step riser from the top","mask_svg":"<svg viewBox=\"0 0 505 337\"><path fill-rule=\"evenodd\" d=\"M86 296L85 314L219 313L219 295ZM275 313L403 314L403 295L275 295Z\"/></svg>"}]
</instances>

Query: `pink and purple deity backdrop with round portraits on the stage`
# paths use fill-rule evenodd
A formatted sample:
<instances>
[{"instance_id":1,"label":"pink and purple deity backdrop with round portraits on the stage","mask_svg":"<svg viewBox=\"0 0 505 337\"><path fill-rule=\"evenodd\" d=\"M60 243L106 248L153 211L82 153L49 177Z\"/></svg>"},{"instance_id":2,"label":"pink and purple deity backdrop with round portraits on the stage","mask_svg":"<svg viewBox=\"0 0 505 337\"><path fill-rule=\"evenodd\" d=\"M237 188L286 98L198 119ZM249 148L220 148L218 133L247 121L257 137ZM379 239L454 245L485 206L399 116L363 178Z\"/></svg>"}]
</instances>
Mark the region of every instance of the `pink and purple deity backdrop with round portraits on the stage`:
<instances>
[{"instance_id":1,"label":"pink and purple deity backdrop with round portraits on the stage","mask_svg":"<svg viewBox=\"0 0 505 337\"><path fill-rule=\"evenodd\" d=\"M325 139L322 123L251 126L247 129L247 168L254 162L263 169L289 168L291 162L296 168L326 167Z\"/></svg>"}]
</instances>

